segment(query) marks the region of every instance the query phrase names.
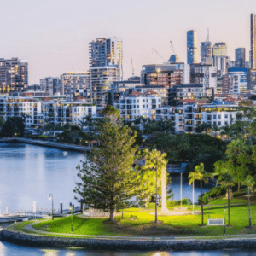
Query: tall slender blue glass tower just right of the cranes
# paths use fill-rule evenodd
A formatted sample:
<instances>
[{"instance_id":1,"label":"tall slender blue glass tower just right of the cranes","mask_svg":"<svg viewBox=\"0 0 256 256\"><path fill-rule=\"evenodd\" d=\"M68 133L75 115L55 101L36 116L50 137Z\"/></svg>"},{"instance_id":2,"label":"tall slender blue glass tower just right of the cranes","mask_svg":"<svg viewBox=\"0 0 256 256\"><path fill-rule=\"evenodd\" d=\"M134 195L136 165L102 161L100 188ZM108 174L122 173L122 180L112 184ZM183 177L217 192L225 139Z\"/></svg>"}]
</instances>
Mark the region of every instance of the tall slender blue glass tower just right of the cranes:
<instances>
[{"instance_id":1,"label":"tall slender blue glass tower just right of the cranes","mask_svg":"<svg viewBox=\"0 0 256 256\"><path fill-rule=\"evenodd\" d=\"M187 32L187 63L198 63L197 32L195 30Z\"/></svg>"}]
</instances>

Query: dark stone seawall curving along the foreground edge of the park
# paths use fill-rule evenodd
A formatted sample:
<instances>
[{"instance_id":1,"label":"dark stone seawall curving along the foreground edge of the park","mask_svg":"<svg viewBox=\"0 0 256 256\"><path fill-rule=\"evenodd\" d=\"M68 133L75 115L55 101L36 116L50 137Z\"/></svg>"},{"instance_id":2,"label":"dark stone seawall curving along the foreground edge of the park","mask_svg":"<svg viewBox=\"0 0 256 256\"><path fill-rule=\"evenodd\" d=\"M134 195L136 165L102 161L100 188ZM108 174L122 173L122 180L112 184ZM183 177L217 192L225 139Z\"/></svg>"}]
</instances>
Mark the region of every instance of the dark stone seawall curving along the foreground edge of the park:
<instances>
[{"instance_id":1,"label":"dark stone seawall curving along the foreground edge of the park","mask_svg":"<svg viewBox=\"0 0 256 256\"><path fill-rule=\"evenodd\" d=\"M143 251L189 251L189 250L219 250L224 248L255 248L256 237L224 238L224 239L180 239L154 237L147 240L139 237L75 238L40 236L20 233L10 230L1 231L1 241L10 241L32 247L84 247L109 250L143 250Z\"/></svg>"}]
</instances>

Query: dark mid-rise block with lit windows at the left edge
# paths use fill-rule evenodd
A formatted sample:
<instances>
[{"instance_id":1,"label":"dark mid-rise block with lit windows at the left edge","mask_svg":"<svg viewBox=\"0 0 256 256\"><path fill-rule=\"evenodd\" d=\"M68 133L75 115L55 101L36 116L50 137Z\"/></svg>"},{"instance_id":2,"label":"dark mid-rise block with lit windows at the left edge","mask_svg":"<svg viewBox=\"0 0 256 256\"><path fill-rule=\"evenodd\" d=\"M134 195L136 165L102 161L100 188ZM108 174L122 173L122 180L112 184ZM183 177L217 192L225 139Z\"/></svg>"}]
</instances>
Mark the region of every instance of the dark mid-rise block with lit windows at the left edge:
<instances>
[{"instance_id":1,"label":"dark mid-rise block with lit windows at the left edge","mask_svg":"<svg viewBox=\"0 0 256 256\"><path fill-rule=\"evenodd\" d=\"M0 93L20 92L27 88L27 61L0 59Z\"/></svg>"}]
</instances>

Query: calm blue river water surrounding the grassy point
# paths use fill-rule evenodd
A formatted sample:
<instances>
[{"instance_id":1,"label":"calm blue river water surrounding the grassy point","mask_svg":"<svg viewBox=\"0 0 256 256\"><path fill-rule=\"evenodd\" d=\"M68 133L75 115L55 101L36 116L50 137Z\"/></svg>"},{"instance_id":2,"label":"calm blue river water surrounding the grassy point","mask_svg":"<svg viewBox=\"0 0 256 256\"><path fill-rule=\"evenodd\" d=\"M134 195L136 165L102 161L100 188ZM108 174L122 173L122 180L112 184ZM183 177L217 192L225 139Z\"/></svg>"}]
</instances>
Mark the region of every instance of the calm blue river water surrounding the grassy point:
<instances>
[{"instance_id":1,"label":"calm blue river water surrounding the grassy point","mask_svg":"<svg viewBox=\"0 0 256 256\"><path fill-rule=\"evenodd\" d=\"M73 189L76 166L84 160L84 154L63 151L23 143L0 143L0 207L2 213L32 211L32 201L36 201L38 210L50 210L49 194L54 195L54 206L67 208L69 202L79 205L74 199ZM171 187L174 199L180 198L180 176L172 177ZM209 189L206 187L204 190ZM183 197L191 197L192 188L183 177ZM200 188L195 187L195 199L200 195ZM8 207L8 209L7 209ZM205 252L110 252L79 249L54 249L22 247L0 242L0 256L249 256L255 255L247 250L223 250Z\"/></svg>"}]
</instances>

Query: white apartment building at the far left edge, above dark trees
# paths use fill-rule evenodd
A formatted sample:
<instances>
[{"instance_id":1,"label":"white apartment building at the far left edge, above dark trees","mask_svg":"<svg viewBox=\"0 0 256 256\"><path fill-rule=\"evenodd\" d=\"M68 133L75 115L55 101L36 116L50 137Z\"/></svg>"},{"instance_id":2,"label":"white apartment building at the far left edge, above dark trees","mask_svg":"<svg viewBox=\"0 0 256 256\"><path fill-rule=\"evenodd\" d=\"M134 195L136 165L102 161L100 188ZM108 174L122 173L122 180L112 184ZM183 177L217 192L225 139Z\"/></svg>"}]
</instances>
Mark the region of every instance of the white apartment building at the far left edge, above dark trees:
<instances>
[{"instance_id":1,"label":"white apartment building at the far left edge, above dark trees","mask_svg":"<svg viewBox=\"0 0 256 256\"><path fill-rule=\"evenodd\" d=\"M23 116L26 128L43 125L41 101L31 97L0 96L0 115L5 121Z\"/></svg>"}]
</instances>

